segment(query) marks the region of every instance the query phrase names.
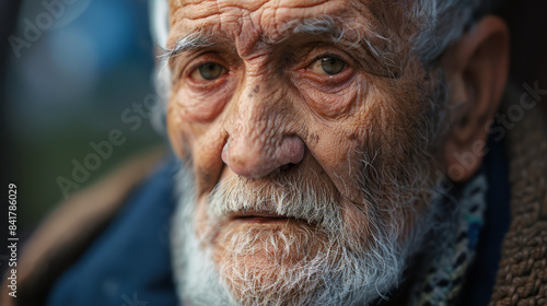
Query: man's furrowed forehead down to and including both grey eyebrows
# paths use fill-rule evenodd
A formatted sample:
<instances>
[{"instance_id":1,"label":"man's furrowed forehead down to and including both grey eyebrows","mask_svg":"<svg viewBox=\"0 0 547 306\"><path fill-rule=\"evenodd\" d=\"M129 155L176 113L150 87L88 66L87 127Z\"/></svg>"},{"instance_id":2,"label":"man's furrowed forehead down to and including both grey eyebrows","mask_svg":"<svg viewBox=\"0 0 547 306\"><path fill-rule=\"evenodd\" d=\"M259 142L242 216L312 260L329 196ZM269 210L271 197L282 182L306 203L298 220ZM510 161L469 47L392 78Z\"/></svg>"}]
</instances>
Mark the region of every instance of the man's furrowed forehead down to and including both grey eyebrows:
<instances>
[{"instance_id":1,"label":"man's furrowed forehead down to and including both grey eyebrows","mask_svg":"<svg viewBox=\"0 0 547 306\"><path fill-rule=\"evenodd\" d=\"M179 5L172 1L172 31L164 57L216 46L235 48L245 57L257 46L319 36L346 48L360 48L371 62L382 61L382 66L386 61L382 57L389 52L388 39L371 30L377 28L376 14L362 1L197 2ZM385 69L375 70L384 74L381 70Z\"/></svg>"}]
</instances>

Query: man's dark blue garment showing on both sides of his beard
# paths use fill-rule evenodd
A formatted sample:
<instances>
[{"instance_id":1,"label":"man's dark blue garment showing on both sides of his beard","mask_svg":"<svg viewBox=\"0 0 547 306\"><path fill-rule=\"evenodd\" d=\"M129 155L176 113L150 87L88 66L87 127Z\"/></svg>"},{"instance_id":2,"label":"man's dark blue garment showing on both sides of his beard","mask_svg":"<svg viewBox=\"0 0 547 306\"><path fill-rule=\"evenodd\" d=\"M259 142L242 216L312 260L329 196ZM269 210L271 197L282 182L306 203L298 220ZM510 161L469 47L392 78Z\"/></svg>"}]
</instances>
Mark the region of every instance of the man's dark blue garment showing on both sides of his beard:
<instances>
[{"instance_id":1,"label":"man's dark blue garment showing on both sides of his beard","mask_svg":"<svg viewBox=\"0 0 547 306\"><path fill-rule=\"evenodd\" d=\"M507 158L501 143L490 142L490 149L485 225L462 305L488 304L509 228ZM48 306L177 305L168 249L177 168L174 161L164 163L132 192L118 217L54 285Z\"/></svg>"}]
</instances>

